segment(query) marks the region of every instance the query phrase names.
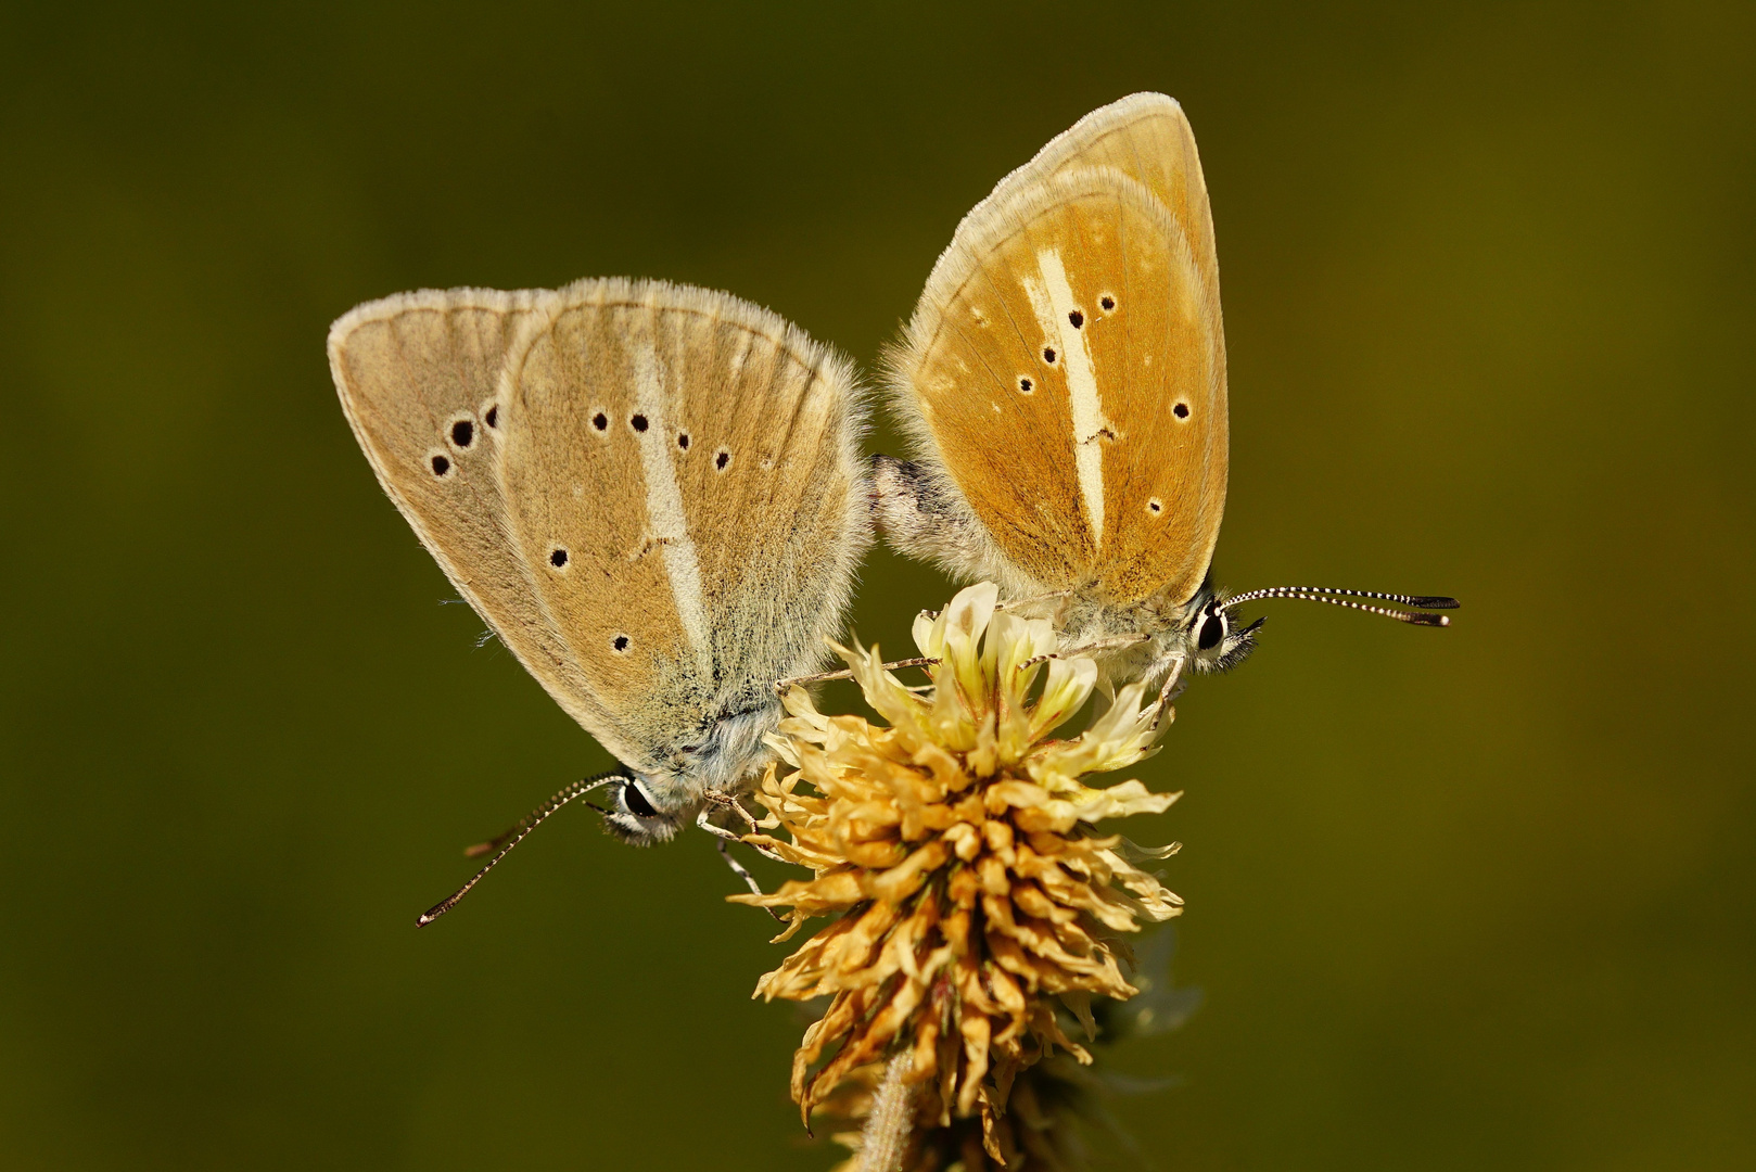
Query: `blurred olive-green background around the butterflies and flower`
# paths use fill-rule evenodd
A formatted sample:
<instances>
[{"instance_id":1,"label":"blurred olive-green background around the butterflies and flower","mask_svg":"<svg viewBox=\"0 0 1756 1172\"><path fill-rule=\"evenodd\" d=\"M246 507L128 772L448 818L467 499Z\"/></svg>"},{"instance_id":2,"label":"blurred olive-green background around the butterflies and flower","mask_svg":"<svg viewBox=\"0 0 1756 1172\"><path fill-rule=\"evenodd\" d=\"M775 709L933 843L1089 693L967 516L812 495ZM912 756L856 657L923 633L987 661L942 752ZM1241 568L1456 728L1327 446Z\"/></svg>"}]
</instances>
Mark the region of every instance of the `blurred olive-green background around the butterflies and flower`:
<instances>
[{"instance_id":1,"label":"blurred olive-green background around the butterflies and flower","mask_svg":"<svg viewBox=\"0 0 1756 1172\"><path fill-rule=\"evenodd\" d=\"M699 836L569 812L414 931L608 759L439 604L325 329L666 276L871 364L1006 170L1162 90L1219 580L1466 610L1282 604L1180 705L1141 836L1206 1005L1122 1118L1164 1168L1756 1167L1756 11L1447 7L9 5L0 1165L829 1167ZM855 622L946 594L880 550Z\"/></svg>"}]
</instances>

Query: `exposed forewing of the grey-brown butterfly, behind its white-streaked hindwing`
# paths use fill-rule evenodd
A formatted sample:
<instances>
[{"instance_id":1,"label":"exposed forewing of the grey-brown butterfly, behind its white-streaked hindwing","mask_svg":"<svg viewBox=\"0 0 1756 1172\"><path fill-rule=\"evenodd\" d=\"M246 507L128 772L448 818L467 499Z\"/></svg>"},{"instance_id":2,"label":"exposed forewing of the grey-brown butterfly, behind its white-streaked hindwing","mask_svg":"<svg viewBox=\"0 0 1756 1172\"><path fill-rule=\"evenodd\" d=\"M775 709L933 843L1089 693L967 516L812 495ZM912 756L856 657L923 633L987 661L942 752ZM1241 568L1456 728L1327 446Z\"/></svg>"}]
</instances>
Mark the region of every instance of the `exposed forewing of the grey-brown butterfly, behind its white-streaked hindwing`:
<instances>
[{"instance_id":1,"label":"exposed forewing of the grey-brown butterfly, behind its white-streaked hindwing","mask_svg":"<svg viewBox=\"0 0 1756 1172\"><path fill-rule=\"evenodd\" d=\"M500 369L548 297L465 288L367 302L330 330L330 371L379 483L446 576L557 703L597 727L604 712L506 531L497 474Z\"/></svg>"}]
</instances>

